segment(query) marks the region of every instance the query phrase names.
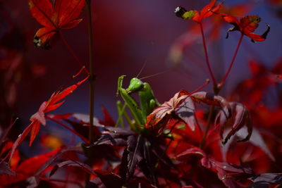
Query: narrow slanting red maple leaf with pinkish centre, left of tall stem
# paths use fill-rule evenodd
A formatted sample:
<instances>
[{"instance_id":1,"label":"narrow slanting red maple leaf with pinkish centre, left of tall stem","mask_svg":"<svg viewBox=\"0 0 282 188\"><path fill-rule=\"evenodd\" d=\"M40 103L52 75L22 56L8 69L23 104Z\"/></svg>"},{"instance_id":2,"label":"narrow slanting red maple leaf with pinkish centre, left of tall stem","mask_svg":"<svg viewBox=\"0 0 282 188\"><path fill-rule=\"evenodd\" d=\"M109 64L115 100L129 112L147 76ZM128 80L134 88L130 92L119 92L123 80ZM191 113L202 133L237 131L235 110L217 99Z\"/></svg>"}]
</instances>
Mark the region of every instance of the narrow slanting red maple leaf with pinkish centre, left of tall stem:
<instances>
[{"instance_id":1,"label":"narrow slanting red maple leaf with pinkish centre, left of tall stem","mask_svg":"<svg viewBox=\"0 0 282 188\"><path fill-rule=\"evenodd\" d=\"M80 84L85 82L88 77L85 77L84 80L81 80L80 82L77 82L76 84L73 84L70 87L67 87L66 89L63 89L63 91L57 91L54 92L50 99L48 101L44 101L41 106L39 107L39 110L37 113L31 116L30 120L31 123L28 125L22 134L19 135L18 139L16 139L15 143L13 144L13 147L11 149L11 155L10 159L13 156L13 153L15 152L18 145L23 142L23 139L27 137L27 134L30 132L30 146L32 142L35 140L35 137L37 136L40 128L40 124L46 125L46 119L45 119L45 113L49 111L54 111L56 108L59 108L64 101L63 100L66 96L71 94L75 89L78 88Z\"/></svg>"}]
</instances>

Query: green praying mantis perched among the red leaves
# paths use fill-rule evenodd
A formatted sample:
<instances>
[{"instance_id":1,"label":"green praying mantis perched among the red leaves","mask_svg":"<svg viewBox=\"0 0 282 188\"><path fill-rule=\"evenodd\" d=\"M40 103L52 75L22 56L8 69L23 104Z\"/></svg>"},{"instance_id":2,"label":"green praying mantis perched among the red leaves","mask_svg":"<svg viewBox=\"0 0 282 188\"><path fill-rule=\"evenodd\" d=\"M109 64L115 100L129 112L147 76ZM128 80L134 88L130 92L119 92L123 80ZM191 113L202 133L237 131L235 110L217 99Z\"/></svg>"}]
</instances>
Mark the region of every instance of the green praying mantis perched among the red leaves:
<instances>
[{"instance_id":1,"label":"green praying mantis perched among the red leaves","mask_svg":"<svg viewBox=\"0 0 282 188\"><path fill-rule=\"evenodd\" d=\"M146 124L147 115L152 113L154 108L159 106L159 102L154 97L154 93L150 85L146 82L142 82L137 77L133 77L130 80L128 88L124 89L124 77L125 75L118 77L118 89L116 94L121 95L124 105L121 104L121 101L117 102L119 117L116 125L121 122L121 125L123 126L122 115L124 115L133 130L141 131L142 127ZM135 101L135 99L131 96L133 93L137 93L139 95L140 105L137 104L137 101ZM130 120L128 114L125 112L126 106L129 108L134 121Z\"/></svg>"}]
</instances>

